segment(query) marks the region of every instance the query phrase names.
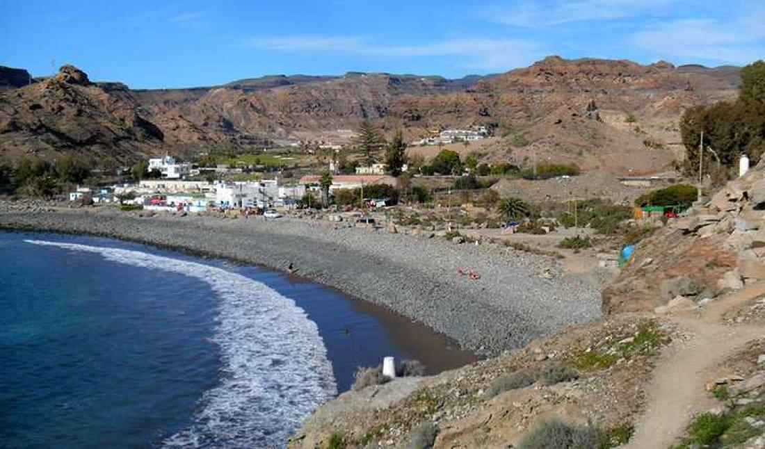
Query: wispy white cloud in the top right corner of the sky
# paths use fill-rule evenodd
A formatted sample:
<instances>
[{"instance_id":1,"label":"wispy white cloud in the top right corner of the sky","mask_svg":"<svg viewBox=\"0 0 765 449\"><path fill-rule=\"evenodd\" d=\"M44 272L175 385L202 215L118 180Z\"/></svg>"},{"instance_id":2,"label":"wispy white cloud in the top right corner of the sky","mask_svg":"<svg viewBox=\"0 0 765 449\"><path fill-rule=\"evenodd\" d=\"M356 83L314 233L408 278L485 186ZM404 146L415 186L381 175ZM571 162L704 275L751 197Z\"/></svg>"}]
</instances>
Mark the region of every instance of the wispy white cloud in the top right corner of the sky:
<instances>
[{"instance_id":1,"label":"wispy white cloud in the top right corner of the sky","mask_svg":"<svg viewBox=\"0 0 765 449\"><path fill-rule=\"evenodd\" d=\"M666 57L750 63L765 57L765 8L731 8L733 17L662 21L633 35L639 47Z\"/></svg>"}]
</instances>

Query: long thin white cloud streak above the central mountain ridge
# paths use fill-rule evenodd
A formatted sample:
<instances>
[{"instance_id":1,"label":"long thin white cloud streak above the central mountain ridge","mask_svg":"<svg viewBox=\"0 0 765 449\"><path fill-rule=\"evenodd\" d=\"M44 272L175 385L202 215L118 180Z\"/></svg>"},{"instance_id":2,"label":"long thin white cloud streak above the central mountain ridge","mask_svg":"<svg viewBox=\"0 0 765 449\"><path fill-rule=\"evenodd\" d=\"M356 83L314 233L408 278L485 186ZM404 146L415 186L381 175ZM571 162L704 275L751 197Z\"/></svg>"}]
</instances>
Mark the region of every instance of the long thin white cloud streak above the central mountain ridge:
<instances>
[{"instance_id":1,"label":"long thin white cloud streak above the central mountain ridge","mask_svg":"<svg viewBox=\"0 0 765 449\"><path fill-rule=\"evenodd\" d=\"M426 44L375 44L362 37L262 37L249 47L292 52L322 52L354 57L459 57L461 67L509 70L542 56L539 45L521 39L464 38Z\"/></svg>"}]
</instances>

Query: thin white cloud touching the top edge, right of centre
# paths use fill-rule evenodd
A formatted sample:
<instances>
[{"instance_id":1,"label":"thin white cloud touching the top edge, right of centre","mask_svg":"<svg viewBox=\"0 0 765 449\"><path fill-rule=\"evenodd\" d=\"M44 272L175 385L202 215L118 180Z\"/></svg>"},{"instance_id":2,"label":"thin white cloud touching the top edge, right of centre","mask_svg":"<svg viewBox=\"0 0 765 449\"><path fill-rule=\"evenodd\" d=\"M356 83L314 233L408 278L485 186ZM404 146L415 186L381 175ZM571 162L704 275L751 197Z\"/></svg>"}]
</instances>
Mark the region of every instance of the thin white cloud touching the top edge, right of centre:
<instances>
[{"instance_id":1,"label":"thin white cloud touching the top edge, right of centre","mask_svg":"<svg viewBox=\"0 0 765 449\"><path fill-rule=\"evenodd\" d=\"M484 18L522 28L544 28L579 21L630 18L663 14L679 0L576 0L573 2L532 2L522 0L507 7L491 6Z\"/></svg>"}]
</instances>

